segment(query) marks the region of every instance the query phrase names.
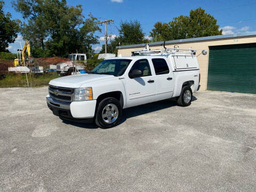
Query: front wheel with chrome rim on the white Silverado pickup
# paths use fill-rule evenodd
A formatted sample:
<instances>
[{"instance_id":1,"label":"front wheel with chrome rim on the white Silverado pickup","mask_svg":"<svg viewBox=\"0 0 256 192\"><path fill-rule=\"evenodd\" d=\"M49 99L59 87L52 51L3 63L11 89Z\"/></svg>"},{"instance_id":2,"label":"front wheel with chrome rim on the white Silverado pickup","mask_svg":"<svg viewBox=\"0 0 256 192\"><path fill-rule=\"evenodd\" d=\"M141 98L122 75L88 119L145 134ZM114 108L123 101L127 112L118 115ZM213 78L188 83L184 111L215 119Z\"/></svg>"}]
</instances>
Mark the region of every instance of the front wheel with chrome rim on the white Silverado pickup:
<instances>
[{"instance_id":1,"label":"front wheel with chrome rim on the white Silverado pickup","mask_svg":"<svg viewBox=\"0 0 256 192\"><path fill-rule=\"evenodd\" d=\"M122 107L115 98L106 98L100 101L95 124L102 129L108 129L116 126L122 117Z\"/></svg>"}]
</instances>

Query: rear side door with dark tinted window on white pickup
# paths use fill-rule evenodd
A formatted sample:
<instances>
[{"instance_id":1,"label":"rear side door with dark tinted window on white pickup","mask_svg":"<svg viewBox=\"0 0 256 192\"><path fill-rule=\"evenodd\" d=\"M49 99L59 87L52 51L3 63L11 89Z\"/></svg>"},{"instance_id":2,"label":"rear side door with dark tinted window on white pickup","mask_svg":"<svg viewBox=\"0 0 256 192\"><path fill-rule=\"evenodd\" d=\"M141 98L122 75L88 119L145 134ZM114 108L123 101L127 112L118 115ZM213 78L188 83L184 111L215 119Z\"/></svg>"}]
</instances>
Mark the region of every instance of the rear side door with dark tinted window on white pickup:
<instances>
[{"instance_id":1,"label":"rear side door with dark tinted window on white pickup","mask_svg":"<svg viewBox=\"0 0 256 192\"><path fill-rule=\"evenodd\" d=\"M151 59L156 78L156 100L163 100L172 97L174 88L173 72L163 58Z\"/></svg>"}]
</instances>

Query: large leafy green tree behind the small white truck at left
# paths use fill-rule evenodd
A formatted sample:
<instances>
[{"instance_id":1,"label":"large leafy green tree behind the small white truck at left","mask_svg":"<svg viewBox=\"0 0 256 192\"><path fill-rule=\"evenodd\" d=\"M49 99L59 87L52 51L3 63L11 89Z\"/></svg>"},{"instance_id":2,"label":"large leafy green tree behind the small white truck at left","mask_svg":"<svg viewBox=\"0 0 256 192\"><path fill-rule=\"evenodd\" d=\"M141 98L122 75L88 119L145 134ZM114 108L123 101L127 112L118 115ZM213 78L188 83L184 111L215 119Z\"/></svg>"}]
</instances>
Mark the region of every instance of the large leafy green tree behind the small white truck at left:
<instances>
[{"instance_id":1,"label":"large leafy green tree behind the small white truck at left","mask_svg":"<svg viewBox=\"0 0 256 192\"><path fill-rule=\"evenodd\" d=\"M66 0L16 0L13 6L27 20L21 33L30 40L34 57L93 54L91 44L98 43L94 32L100 28L91 14L84 20L82 5L68 6Z\"/></svg>"}]
</instances>

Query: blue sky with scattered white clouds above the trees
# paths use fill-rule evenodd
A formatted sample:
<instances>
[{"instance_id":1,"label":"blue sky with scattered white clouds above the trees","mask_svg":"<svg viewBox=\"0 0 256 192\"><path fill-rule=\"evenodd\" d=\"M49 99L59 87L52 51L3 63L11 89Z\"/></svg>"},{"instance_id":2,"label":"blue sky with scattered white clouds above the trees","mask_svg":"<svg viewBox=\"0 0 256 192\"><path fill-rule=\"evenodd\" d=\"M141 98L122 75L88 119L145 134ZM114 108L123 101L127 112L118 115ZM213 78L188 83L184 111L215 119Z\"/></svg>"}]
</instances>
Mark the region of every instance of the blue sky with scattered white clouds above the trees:
<instances>
[{"instance_id":1,"label":"blue sky with scattered white clouds above the trees","mask_svg":"<svg viewBox=\"0 0 256 192\"><path fill-rule=\"evenodd\" d=\"M14 11L11 6L12 0L4 0L4 11L9 11L14 19L21 19L21 14ZM217 19L218 25L223 30L223 34L244 33L247 31L256 31L256 1L238 1L238 0L214 0L214 1L170 1L170 0L67 0L69 5L83 5L83 14L90 12L99 20L113 19L114 23L108 25L108 34L118 35L117 28L121 21L138 20L142 25L145 36L153 29L157 21L169 22L173 17L179 15L188 15L191 9L197 9L201 6L207 13L210 13ZM93 45L97 51L101 49L104 43L102 32L97 33L100 38L99 45ZM24 44L22 37L10 44L9 50L16 52L20 47L20 42Z\"/></svg>"}]
</instances>

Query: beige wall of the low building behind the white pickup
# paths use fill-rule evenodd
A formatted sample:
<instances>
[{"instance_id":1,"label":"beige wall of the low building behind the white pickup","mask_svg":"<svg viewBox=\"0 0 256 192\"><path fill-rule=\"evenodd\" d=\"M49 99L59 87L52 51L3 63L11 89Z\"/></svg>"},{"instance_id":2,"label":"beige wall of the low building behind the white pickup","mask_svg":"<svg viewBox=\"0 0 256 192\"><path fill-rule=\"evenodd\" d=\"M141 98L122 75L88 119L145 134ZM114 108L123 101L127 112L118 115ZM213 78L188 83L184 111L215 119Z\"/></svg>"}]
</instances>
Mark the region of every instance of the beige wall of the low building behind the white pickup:
<instances>
[{"instance_id":1,"label":"beige wall of the low building behind the white pickup","mask_svg":"<svg viewBox=\"0 0 256 192\"><path fill-rule=\"evenodd\" d=\"M244 36L235 38L225 38L225 39L211 39L207 41L194 41L194 42L183 42L183 43L173 43L166 44L166 47L173 48L174 45L179 45L181 49L191 49L197 50L196 55L198 55L198 63L201 73L201 90L207 89L207 75L208 75L208 63L209 63L209 46L216 45L230 45L230 44L244 44L244 43L256 43L256 36ZM145 47L133 47L133 48L123 48L118 50L118 55L131 56L132 51L144 49ZM160 49L160 45L149 46L150 50ZM202 50L207 51L207 55L200 54Z\"/></svg>"}]
</instances>

